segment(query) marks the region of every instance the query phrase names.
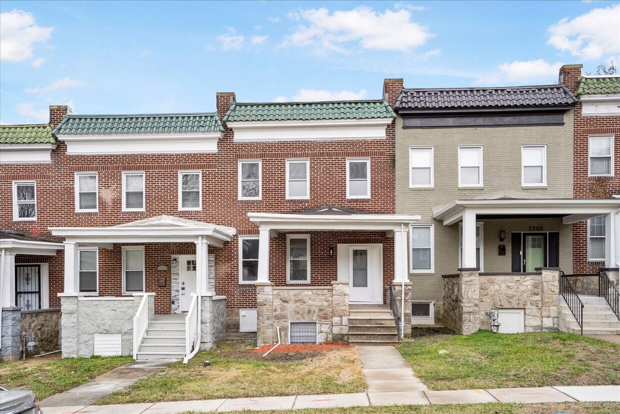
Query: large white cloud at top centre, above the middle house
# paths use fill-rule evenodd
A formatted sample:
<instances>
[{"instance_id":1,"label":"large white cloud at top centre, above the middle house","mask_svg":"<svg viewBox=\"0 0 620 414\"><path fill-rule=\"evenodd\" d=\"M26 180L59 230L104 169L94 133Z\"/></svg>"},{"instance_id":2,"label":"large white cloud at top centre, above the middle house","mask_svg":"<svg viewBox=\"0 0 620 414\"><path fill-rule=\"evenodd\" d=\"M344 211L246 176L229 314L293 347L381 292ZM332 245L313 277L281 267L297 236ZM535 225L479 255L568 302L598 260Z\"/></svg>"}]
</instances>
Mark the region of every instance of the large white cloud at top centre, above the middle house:
<instances>
[{"instance_id":1,"label":"large white cloud at top centre, above the middle house","mask_svg":"<svg viewBox=\"0 0 620 414\"><path fill-rule=\"evenodd\" d=\"M433 37L428 28L411 20L405 9L375 12L358 6L349 11L309 9L298 12L307 25L299 25L286 37L284 45L314 46L317 52L350 52L353 45L363 49L407 52Z\"/></svg>"}]
</instances>

